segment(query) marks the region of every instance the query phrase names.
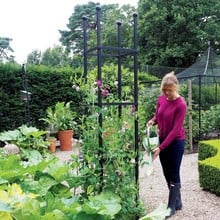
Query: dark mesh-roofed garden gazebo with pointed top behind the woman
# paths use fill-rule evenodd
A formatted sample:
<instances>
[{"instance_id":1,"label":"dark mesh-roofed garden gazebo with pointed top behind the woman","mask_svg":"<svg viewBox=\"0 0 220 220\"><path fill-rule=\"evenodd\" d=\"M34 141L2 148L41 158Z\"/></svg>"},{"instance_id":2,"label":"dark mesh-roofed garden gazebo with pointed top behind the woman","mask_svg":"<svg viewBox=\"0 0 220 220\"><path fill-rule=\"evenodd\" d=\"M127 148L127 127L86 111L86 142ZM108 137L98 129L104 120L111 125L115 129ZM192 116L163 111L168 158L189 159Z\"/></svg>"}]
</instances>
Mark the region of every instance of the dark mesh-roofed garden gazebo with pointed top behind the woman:
<instances>
[{"instance_id":1,"label":"dark mesh-roofed garden gazebo with pointed top behind the woman","mask_svg":"<svg viewBox=\"0 0 220 220\"><path fill-rule=\"evenodd\" d=\"M178 73L177 78L181 84L190 81L193 90L193 99L198 100L199 110L199 138L201 132L201 110L206 110L210 105L219 103L219 85L220 85L220 57L209 45L207 50L198 56L196 62L189 68ZM209 97L209 105L204 103L204 95L207 88L212 88L213 95ZM203 91L204 90L204 91ZM207 95L207 94L206 94Z\"/></svg>"}]
</instances>

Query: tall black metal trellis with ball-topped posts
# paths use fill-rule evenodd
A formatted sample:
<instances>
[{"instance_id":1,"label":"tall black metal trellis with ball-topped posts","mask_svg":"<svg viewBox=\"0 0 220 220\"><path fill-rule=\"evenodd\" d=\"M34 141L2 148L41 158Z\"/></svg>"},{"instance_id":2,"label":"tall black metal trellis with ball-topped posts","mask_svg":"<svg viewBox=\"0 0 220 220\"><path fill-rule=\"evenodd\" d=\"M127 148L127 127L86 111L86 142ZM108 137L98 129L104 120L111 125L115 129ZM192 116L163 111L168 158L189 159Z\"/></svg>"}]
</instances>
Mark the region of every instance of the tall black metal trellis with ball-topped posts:
<instances>
[{"instance_id":1,"label":"tall black metal trellis with ball-topped posts","mask_svg":"<svg viewBox=\"0 0 220 220\"><path fill-rule=\"evenodd\" d=\"M101 42L101 24L100 24L100 15L101 15L101 8L100 6L96 7L96 38L97 38L97 45L93 48L88 48L87 43L87 20L86 16L83 16L83 42L84 42L84 78L85 82L87 82L87 74L88 74L88 59L89 57L96 56L97 61L97 80L102 80L102 58L103 57L113 57L117 59L117 81L118 81L118 91L117 96L119 102L104 102L102 99L101 91L98 91L98 101L97 105L100 108L104 106L116 106L118 107L118 117L121 116L122 113L122 106L135 106L135 111L138 111L138 51L137 51L137 14L133 14L133 48L123 48L122 47L122 40L121 40L121 25L120 21L117 22L117 46L103 46ZM134 92L133 92L133 101L131 102L124 102L122 100L122 58L127 56L133 57L133 74L134 74ZM98 120L99 126L102 127L103 125L103 115L102 113L99 114ZM138 164L138 157L139 157L139 147L138 147L138 119L135 117L134 119L134 147L136 152L135 158L135 180L136 184L138 184L138 176L139 176L139 164ZM103 139L102 133L99 133L99 147L103 146ZM100 161L102 163L102 161ZM101 174L103 175L103 173Z\"/></svg>"}]
</instances>

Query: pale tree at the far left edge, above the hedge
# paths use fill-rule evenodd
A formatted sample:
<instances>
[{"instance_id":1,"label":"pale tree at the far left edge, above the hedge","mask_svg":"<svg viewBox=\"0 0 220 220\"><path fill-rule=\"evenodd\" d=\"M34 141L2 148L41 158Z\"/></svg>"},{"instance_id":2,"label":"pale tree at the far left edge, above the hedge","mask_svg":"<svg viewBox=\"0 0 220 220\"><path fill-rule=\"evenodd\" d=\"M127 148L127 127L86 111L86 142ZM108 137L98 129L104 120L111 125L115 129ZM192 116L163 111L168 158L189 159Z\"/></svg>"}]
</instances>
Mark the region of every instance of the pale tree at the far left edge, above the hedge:
<instances>
[{"instance_id":1,"label":"pale tree at the far left edge, above the hedge","mask_svg":"<svg viewBox=\"0 0 220 220\"><path fill-rule=\"evenodd\" d=\"M11 38L0 37L0 60L13 60L14 57L10 55L11 52L14 52L10 46Z\"/></svg>"}]
</instances>

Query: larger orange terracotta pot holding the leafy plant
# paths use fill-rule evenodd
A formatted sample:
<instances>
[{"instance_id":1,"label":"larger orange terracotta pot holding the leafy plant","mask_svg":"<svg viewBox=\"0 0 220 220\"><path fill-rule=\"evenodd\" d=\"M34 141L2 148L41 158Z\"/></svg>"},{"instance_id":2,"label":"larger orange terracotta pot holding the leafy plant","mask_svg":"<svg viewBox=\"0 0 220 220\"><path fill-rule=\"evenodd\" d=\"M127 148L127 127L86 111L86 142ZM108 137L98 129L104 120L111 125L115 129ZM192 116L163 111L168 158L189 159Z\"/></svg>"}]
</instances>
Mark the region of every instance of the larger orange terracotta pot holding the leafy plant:
<instances>
[{"instance_id":1,"label":"larger orange terracotta pot holding the leafy plant","mask_svg":"<svg viewBox=\"0 0 220 220\"><path fill-rule=\"evenodd\" d=\"M70 151L73 149L73 130L58 131L60 150Z\"/></svg>"}]
</instances>

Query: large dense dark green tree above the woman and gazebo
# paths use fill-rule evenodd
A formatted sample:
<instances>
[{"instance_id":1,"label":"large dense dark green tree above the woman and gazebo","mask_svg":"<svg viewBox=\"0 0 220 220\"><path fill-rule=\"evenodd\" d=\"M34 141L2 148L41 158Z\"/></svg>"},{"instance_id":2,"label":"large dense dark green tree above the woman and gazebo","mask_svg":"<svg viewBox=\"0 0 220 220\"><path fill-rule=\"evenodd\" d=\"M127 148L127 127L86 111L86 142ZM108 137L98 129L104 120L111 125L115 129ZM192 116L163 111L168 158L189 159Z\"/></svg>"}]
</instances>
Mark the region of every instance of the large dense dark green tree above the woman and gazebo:
<instances>
[{"instance_id":1,"label":"large dense dark green tree above the woman and gazebo","mask_svg":"<svg viewBox=\"0 0 220 220\"><path fill-rule=\"evenodd\" d=\"M219 11L216 0L139 0L141 63L186 68L209 42L219 51Z\"/></svg>"}]
</instances>

